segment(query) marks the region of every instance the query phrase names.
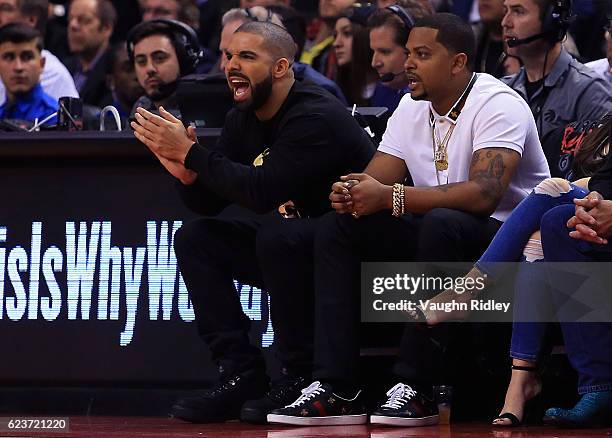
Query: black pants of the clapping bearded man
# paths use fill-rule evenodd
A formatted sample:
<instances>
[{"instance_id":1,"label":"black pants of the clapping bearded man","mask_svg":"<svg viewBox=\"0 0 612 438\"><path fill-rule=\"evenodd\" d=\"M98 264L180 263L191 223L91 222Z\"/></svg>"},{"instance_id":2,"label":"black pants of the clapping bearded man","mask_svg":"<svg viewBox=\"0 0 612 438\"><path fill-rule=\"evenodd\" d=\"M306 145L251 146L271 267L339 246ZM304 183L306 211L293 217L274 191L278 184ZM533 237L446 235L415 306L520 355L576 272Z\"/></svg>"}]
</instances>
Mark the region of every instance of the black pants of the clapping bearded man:
<instances>
[{"instance_id":1,"label":"black pants of the clapping bearded man","mask_svg":"<svg viewBox=\"0 0 612 438\"><path fill-rule=\"evenodd\" d=\"M315 222L239 214L196 219L177 231L176 256L198 331L224 374L265 369L259 348L249 342L236 279L270 294L281 364L287 373L310 375Z\"/></svg>"}]
</instances>

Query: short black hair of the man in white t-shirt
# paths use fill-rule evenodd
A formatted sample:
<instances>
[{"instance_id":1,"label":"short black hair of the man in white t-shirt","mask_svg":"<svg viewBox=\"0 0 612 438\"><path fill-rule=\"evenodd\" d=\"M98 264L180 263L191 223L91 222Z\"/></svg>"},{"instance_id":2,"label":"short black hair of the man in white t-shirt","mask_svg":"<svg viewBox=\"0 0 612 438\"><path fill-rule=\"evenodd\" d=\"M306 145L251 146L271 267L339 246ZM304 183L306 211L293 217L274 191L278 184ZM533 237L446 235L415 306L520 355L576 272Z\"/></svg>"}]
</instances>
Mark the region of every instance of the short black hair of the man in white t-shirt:
<instances>
[{"instance_id":1,"label":"short black hair of the man in white t-shirt","mask_svg":"<svg viewBox=\"0 0 612 438\"><path fill-rule=\"evenodd\" d=\"M465 53L467 67L473 71L476 38L472 26L455 14L439 12L418 18L414 27L436 29L436 41L451 53Z\"/></svg>"}]
</instances>

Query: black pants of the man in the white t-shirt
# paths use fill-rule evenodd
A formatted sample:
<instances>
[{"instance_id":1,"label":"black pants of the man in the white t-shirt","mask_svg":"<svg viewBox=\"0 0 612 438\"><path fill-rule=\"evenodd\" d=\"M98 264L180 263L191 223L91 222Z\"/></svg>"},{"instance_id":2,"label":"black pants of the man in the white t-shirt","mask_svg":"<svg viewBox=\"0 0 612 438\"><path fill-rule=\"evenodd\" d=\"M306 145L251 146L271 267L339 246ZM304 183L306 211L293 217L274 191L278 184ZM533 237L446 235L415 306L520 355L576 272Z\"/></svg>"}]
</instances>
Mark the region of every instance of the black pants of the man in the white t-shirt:
<instances>
[{"instance_id":1,"label":"black pants of the man in the white t-shirt","mask_svg":"<svg viewBox=\"0 0 612 438\"><path fill-rule=\"evenodd\" d=\"M395 218L389 212L355 219L329 213L320 219L314 247L314 378L354 384L359 362L362 261L471 261L501 222L446 208ZM395 372L427 384L439 372L436 331L406 324ZM444 333L442 333L443 335Z\"/></svg>"}]
</instances>

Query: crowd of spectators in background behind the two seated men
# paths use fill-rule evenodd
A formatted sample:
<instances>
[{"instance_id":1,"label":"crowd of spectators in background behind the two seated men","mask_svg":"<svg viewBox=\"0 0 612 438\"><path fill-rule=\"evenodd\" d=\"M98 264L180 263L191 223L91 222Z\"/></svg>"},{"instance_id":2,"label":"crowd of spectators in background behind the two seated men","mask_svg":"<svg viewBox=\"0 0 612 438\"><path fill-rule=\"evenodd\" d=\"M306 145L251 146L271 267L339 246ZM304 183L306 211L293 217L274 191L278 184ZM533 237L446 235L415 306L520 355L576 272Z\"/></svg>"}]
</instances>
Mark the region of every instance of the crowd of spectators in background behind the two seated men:
<instances>
[{"instance_id":1,"label":"crowd of spectators in background behind the two seated men","mask_svg":"<svg viewBox=\"0 0 612 438\"><path fill-rule=\"evenodd\" d=\"M609 80L605 3L573 3L563 46ZM410 22L436 11L473 25L475 71L496 77L518 71L521 59L504 44L503 0L0 0L0 117L40 121L66 96L81 99L86 125L108 105L123 128L135 105L163 104L180 116L177 79L220 73L229 38L247 21L288 30L298 80L323 86L349 106L392 112L409 91Z\"/></svg>"}]
</instances>

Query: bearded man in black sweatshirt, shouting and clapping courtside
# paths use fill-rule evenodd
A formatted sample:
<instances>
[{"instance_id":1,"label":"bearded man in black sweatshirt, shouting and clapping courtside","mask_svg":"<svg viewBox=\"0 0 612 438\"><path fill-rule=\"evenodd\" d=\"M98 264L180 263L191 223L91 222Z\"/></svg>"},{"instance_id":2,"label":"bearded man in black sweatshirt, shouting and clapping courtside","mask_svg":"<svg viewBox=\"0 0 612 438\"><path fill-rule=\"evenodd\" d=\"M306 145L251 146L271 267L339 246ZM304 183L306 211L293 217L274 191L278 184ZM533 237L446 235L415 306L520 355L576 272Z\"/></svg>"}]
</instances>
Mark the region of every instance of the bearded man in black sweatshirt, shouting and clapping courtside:
<instances>
[{"instance_id":1,"label":"bearded man in black sweatshirt, shouting and clapping courtside","mask_svg":"<svg viewBox=\"0 0 612 438\"><path fill-rule=\"evenodd\" d=\"M193 129L185 130L163 108L161 117L139 108L132 124L136 137L181 181L188 205L207 215L185 224L175 239L199 332L221 371L214 388L173 407L188 421L241 416L265 422L271 409L299 395L311 373L313 285L306 266L312 266L316 218L330 210L331 184L363 169L374 147L337 99L295 81L294 54L291 36L275 24L249 22L236 30L224 54L236 108L214 147L197 143ZM248 213L210 217L230 204ZM296 241L310 244L287 253ZM246 405L264 395L267 377L258 348L248 341L249 319L234 278L270 293L283 367L268 395ZM275 312L275 303L293 310Z\"/></svg>"}]
</instances>

